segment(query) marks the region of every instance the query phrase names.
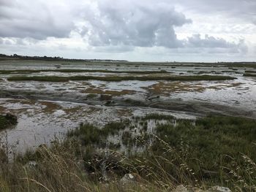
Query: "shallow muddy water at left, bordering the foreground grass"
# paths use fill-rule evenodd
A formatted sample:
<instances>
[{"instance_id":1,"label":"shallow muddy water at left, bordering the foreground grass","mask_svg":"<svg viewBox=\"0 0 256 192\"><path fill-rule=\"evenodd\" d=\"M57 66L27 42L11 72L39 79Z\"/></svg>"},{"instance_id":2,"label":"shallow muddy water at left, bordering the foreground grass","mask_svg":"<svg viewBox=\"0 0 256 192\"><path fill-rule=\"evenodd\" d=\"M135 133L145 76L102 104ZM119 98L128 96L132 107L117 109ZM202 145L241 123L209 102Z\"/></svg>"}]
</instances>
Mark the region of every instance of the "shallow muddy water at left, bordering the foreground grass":
<instances>
[{"instance_id":1,"label":"shallow muddy water at left, bordering the foreground grass","mask_svg":"<svg viewBox=\"0 0 256 192\"><path fill-rule=\"evenodd\" d=\"M152 110L148 108L89 106L71 102L30 101L20 99L0 99L0 106L4 112L11 112L18 116L15 128L0 132L1 142L8 142L10 148L23 152L26 148L34 148L43 143L50 144L54 139L63 139L69 129L80 123L94 123L99 126L110 121L132 117L132 115L146 115ZM47 104L47 107L45 107ZM195 118L193 115L179 114L155 110L166 115L176 117Z\"/></svg>"}]
</instances>

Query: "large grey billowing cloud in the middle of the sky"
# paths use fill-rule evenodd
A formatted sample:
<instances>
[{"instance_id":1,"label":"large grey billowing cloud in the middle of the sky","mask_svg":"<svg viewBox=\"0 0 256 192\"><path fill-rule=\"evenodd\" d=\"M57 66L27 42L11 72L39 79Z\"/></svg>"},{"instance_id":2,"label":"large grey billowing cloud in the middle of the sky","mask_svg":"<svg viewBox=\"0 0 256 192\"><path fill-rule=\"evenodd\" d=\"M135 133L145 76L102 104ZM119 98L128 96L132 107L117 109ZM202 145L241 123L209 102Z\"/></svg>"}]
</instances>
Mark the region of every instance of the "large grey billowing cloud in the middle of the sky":
<instances>
[{"instance_id":1,"label":"large grey billowing cloud in the middle of the sky","mask_svg":"<svg viewBox=\"0 0 256 192\"><path fill-rule=\"evenodd\" d=\"M159 11L160 10L160 11ZM192 23L167 3L98 1L97 11L85 15L92 46L180 47L175 26Z\"/></svg>"}]
</instances>

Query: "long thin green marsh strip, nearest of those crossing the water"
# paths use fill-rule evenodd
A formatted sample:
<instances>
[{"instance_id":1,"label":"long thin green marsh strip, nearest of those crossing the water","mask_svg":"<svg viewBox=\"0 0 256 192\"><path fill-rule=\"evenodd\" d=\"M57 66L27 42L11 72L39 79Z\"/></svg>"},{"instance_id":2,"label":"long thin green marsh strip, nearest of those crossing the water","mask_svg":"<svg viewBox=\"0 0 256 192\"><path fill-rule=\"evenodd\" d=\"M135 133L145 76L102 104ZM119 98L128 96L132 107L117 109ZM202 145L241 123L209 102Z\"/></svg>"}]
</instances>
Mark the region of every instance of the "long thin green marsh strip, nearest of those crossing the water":
<instances>
[{"instance_id":1,"label":"long thin green marsh strip, nearest of those crossing the water","mask_svg":"<svg viewBox=\"0 0 256 192\"><path fill-rule=\"evenodd\" d=\"M214 75L192 75L192 76L111 76L111 77L97 77L97 76L32 76L32 77L9 77L10 81L48 81L48 82L67 82L69 80L102 80L102 81L123 81L123 80L234 80L235 77L229 76L214 76Z\"/></svg>"}]
</instances>

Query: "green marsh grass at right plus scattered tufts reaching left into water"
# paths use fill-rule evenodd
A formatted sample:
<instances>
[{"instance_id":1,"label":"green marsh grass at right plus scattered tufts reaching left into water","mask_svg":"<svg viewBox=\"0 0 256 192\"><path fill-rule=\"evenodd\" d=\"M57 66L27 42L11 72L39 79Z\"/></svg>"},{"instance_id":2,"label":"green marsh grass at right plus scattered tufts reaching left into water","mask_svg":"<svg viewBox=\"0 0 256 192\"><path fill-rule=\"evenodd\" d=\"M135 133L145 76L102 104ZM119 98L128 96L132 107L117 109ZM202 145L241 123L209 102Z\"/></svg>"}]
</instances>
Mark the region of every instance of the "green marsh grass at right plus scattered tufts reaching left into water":
<instances>
[{"instance_id":1,"label":"green marsh grass at right plus scattered tufts reaching left into water","mask_svg":"<svg viewBox=\"0 0 256 192\"><path fill-rule=\"evenodd\" d=\"M140 120L138 123L142 126L141 131L146 131L147 129L143 128L143 125L146 125L143 120L145 122L151 119L172 121L175 118L168 115L151 114L136 119ZM112 128L113 130L120 130L125 127L118 124L114 125L111 126L110 124L107 126L108 128L102 128L102 133L104 132L104 135L117 134L116 131L110 130ZM189 167L186 169L192 172L190 176L196 177L200 181L204 180L208 184L222 183L223 180L228 180L229 178L228 174L225 174L225 178L223 175L222 178L220 177L220 174L223 174L222 168L225 167L225 170L227 170L227 167L231 169L233 166L232 159L223 158L223 156L233 157L236 159L236 163L240 165L244 164L244 158L242 158L241 154L256 159L255 145L252 145L256 138L255 125L255 120L233 117L207 117L195 121L176 120L175 125L170 123L159 124L154 134L154 142L148 147L146 153L141 153L135 157L130 156L129 161L132 162L131 159L133 158L152 159L153 156L160 157L157 161L162 166L165 166L165 171L180 183L184 183L184 178L182 178L182 181L179 178L180 169L173 168L173 166L180 165L181 159L183 159L182 166ZM90 133L93 134L94 131L90 131ZM146 140L148 138L143 137ZM129 146L130 142L135 142L129 131L124 131L121 139L123 144L127 146ZM137 139L141 140L140 137L137 137ZM146 143L148 142L144 142L144 144ZM173 156L173 154L176 156ZM173 166L165 162L170 161L170 159L172 159ZM157 169L157 167L154 169ZM184 174L190 178L189 172L184 171ZM146 174L140 172L140 176L146 177ZM195 182L195 178L190 179Z\"/></svg>"}]
</instances>

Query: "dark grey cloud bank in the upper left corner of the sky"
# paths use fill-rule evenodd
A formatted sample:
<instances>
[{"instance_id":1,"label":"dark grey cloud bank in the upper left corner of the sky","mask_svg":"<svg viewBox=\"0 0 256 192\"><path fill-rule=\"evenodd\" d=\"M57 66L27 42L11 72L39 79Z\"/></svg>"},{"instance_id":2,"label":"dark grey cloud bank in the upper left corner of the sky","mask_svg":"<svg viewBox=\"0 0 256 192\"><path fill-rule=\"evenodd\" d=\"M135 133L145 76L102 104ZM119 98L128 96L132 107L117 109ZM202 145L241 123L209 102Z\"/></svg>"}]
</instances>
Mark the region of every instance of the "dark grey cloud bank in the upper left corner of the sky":
<instances>
[{"instance_id":1,"label":"dark grey cloud bank in the upper left corner of the sky","mask_svg":"<svg viewBox=\"0 0 256 192\"><path fill-rule=\"evenodd\" d=\"M43 1L0 1L0 37L68 37L72 30L69 20L62 20L61 11L53 12ZM60 7L61 9L61 7Z\"/></svg>"}]
</instances>

